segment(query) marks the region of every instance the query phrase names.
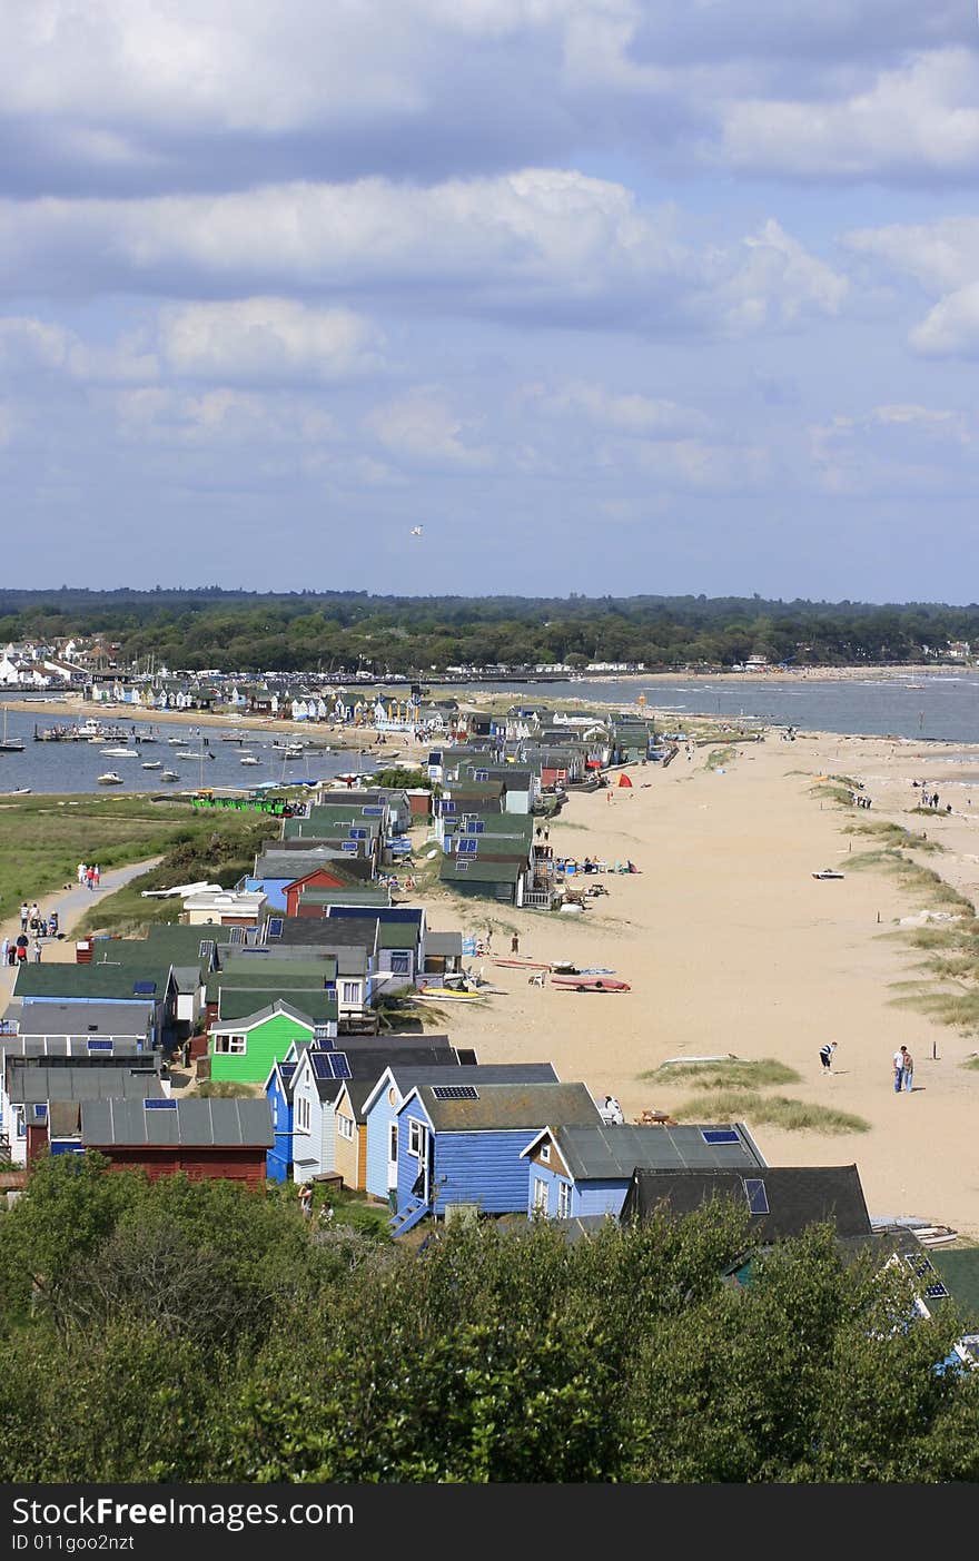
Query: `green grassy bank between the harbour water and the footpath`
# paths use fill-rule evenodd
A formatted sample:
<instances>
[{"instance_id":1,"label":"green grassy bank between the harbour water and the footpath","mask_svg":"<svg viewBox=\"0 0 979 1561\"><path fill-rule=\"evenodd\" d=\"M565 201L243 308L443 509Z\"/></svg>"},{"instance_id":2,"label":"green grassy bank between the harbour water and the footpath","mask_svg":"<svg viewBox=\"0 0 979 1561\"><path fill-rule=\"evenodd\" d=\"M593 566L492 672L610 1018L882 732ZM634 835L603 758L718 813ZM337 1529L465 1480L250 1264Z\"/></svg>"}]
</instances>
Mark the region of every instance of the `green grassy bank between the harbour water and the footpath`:
<instances>
[{"instance_id":1,"label":"green grassy bank between the harbour water and the footpath","mask_svg":"<svg viewBox=\"0 0 979 1561\"><path fill-rule=\"evenodd\" d=\"M189 802L147 796L25 796L0 807L0 916L11 916L23 899L45 896L77 884L80 862L111 868L162 855L166 860L119 894L92 909L100 926L125 915L155 919L166 901L141 901L141 888L166 888L208 877L231 884L251 865L256 846L275 835L275 820L242 813L194 813ZM119 904L117 904L119 902ZM161 918L173 919L173 904Z\"/></svg>"}]
</instances>

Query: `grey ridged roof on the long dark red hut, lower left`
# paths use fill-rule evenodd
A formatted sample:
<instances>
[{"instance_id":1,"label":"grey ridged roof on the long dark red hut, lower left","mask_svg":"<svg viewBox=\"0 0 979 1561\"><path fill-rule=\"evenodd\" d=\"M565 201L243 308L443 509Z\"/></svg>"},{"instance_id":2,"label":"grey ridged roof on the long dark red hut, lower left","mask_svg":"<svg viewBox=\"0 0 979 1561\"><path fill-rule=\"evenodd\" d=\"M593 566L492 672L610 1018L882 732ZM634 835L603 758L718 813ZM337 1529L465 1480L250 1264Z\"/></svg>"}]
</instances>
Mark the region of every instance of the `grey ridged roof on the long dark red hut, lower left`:
<instances>
[{"instance_id":1,"label":"grey ridged roof on the long dark red hut, lower left","mask_svg":"<svg viewBox=\"0 0 979 1561\"><path fill-rule=\"evenodd\" d=\"M86 1101L81 1141L94 1149L123 1144L272 1149L272 1108L261 1099L178 1099L173 1110L147 1111L141 1101Z\"/></svg>"}]
</instances>

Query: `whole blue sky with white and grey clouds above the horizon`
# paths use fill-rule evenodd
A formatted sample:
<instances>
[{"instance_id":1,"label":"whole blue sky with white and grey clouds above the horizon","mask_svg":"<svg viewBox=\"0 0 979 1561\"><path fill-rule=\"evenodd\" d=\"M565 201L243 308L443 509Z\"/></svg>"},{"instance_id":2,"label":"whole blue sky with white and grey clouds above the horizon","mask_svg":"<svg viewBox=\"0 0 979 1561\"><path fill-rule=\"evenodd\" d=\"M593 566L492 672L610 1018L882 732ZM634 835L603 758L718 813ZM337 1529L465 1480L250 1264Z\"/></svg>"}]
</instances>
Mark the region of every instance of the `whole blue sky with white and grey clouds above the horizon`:
<instances>
[{"instance_id":1,"label":"whole blue sky with white and grey clouds above the horizon","mask_svg":"<svg viewBox=\"0 0 979 1561\"><path fill-rule=\"evenodd\" d=\"M976 0L3 0L0 579L968 603L977 172Z\"/></svg>"}]
</instances>

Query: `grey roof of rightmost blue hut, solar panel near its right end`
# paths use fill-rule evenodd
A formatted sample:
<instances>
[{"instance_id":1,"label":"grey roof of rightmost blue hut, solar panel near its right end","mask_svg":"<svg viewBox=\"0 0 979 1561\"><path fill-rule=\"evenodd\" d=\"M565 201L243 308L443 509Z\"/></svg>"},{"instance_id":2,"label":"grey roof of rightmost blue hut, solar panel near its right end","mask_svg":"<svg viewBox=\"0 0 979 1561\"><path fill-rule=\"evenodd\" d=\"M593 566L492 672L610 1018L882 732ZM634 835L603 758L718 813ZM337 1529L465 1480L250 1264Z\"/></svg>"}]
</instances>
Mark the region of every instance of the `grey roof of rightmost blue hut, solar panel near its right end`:
<instances>
[{"instance_id":1,"label":"grey roof of rightmost blue hut, solar panel near its right end","mask_svg":"<svg viewBox=\"0 0 979 1561\"><path fill-rule=\"evenodd\" d=\"M709 1144L707 1132L735 1132L735 1144ZM764 1168L742 1122L682 1127L556 1125L553 1138L576 1182L631 1177L637 1166L656 1171L724 1171Z\"/></svg>"}]
</instances>

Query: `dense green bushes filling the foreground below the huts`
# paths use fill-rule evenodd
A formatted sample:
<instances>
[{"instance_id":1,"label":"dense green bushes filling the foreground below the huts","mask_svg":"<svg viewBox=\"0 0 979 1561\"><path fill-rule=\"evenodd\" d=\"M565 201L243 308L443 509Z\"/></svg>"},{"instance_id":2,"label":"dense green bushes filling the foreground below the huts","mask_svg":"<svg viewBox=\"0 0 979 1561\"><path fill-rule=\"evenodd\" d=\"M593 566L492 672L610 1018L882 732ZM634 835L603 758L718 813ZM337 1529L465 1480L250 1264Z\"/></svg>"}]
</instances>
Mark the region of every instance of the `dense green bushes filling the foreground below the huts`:
<instances>
[{"instance_id":1,"label":"dense green bushes filling the foreground below the huts","mask_svg":"<svg viewBox=\"0 0 979 1561\"><path fill-rule=\"evenodd\" d=\"M979 1374L937 1369L963 1319L828 1225L742 1286L732 1202L412 1247L294 1193L42 1158L0 1216L0 1480L979 1477Z\"/></svg>"}]
</instances>

